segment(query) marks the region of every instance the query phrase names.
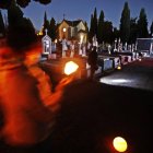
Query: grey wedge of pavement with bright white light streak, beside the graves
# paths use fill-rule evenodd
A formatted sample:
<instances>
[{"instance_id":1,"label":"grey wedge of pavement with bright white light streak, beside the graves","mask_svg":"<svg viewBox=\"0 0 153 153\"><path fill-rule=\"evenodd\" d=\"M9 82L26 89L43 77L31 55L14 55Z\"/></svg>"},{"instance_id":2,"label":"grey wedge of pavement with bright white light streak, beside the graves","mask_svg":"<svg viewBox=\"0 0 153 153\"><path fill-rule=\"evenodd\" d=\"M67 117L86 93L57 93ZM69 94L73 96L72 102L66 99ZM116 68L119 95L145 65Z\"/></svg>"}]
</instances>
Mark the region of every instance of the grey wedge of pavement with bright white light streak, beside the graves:
<instances>
[{"instance_id":1,"label":"grey wedge of pavement with bright white light streak, beside the graves","mask_svg":"<svg viewBox=\"0 0 153 153\"><path fill-rule=\"evenodd\" d=\"M143 58L123 66L121 71L99 78L99 82L153 91L153 58Z\"/></svg>"}]
</instances>

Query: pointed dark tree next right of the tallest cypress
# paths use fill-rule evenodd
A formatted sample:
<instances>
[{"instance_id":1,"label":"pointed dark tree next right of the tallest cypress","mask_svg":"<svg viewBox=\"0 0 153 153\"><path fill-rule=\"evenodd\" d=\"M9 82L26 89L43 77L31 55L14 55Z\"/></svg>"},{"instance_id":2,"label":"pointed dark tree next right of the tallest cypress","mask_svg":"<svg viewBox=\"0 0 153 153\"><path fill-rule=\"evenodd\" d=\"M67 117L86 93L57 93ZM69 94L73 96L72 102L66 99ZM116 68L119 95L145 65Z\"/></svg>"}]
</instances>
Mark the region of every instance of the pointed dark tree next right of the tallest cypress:
<instances>
[{"instance_id":1,"label":"pointed dark tree next right of the tallest cypress","mask_svg":"<svg viewBox=\"0 0 153 153\"><path fill-rule=\"evenodd\" d=\"M144 8L141 9L138 20L138 37L140 38L149 37L148 17Z\"/></svg>"}]
</instances>

